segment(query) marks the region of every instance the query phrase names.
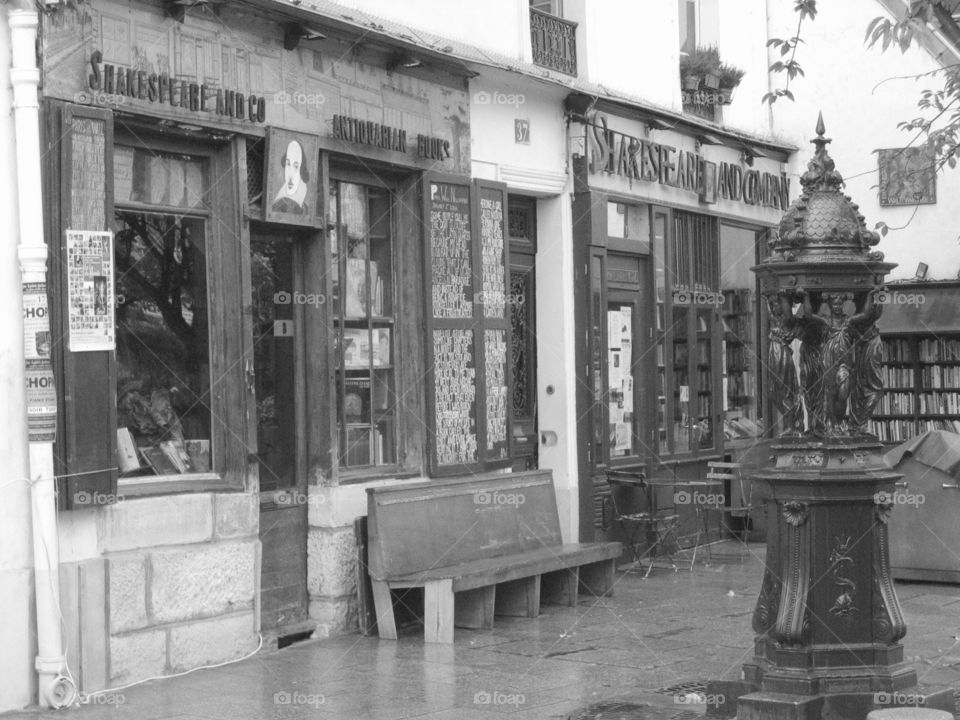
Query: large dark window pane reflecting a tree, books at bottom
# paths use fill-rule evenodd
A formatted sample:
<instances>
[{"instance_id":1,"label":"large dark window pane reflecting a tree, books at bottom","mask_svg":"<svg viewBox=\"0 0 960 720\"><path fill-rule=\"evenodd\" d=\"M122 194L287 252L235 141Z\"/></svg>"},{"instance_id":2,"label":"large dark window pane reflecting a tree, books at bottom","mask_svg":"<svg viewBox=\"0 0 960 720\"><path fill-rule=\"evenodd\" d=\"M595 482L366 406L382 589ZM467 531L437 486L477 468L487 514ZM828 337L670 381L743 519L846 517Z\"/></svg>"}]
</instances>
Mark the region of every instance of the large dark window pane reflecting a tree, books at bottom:
<instances>
[{"instance_id":1,"label":"large dark window pane reflecting a tree, books at bottom","mask_svg":"<svg viewBox=\"0 0 960 720\"><path fill-rule=\"evenodd\" d=\"M203 221L121 211L114 230L121 471L210 472Z\"/></svg>"}]
</instances>

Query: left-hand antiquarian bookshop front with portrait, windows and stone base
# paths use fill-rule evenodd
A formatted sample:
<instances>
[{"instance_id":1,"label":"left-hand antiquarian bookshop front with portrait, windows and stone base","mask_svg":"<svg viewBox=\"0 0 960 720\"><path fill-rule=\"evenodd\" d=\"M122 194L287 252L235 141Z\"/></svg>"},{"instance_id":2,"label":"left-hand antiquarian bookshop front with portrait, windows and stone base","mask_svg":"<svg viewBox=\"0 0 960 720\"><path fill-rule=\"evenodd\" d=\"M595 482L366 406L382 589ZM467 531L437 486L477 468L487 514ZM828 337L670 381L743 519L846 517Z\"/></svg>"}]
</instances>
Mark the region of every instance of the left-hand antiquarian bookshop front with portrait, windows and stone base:
<instances>
[{"instance_id":1,"label":"left-hand antiquarian bookshop front with portrait, windows and stone base","mask_svg":"<svg viewBox=\"0 0 960 720\"><path fill-rule=\"evenodd\" d=\"M85 691L355 627L364 488L510 464L507 194L470 179L464 69L178 8L44 21Z\"/></svg>"}]
</instances>

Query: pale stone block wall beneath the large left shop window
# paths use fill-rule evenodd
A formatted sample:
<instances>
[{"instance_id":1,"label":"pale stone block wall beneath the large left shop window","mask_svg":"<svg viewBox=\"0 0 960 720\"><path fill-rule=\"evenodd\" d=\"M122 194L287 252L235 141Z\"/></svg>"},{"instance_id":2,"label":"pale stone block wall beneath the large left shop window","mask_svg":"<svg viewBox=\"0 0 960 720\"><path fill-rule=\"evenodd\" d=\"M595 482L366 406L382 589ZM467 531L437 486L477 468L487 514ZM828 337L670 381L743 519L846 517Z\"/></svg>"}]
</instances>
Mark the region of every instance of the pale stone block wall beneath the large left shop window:
<instances>
[{"instance_id":1,"label":"pale stone block wall beneath the large left shop window","mask_svg":"<svg viewBox=\"0 0 960 720\"><path fill-rule=\"evenodd\" d=\"M256 647L258 522L251 493L128 499L100 512L109 685Z\"/></svg>"}]
</instances>

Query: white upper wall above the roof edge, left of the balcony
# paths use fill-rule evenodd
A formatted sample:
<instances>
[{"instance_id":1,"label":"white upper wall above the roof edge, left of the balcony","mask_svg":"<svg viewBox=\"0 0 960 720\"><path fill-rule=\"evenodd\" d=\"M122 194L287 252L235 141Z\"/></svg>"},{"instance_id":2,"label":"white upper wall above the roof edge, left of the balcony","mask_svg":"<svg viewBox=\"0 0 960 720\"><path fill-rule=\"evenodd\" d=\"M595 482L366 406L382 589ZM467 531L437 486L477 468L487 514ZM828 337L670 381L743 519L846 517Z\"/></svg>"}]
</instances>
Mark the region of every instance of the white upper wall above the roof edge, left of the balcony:
<instances>
[{"instance_id":1,"label":"white upper wall above the roof edge, left of the balcony","mask_svg":"<svg viewBox=\"0 0 960 720\"><path fill-rule=\"evenodd\" d=\"M529 34L528 4L521 0L335 0L384 19L420 28L451 40L524 57Z\"/></svg>"}]
</instances>

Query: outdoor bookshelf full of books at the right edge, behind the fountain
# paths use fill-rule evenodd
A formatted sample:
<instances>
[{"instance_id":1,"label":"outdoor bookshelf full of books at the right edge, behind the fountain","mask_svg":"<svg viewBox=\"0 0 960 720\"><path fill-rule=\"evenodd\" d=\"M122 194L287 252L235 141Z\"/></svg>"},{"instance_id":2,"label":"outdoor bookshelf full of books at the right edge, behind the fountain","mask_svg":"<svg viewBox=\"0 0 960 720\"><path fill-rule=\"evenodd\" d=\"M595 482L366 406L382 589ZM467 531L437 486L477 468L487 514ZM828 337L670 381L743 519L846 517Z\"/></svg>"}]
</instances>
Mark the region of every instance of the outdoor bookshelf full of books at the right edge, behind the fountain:
<instances>
[{"instance_id":1,"label":"outdoor bookshelf full of books at the right edge, behind the fountain","mask_svg":"<svg viewBox=\"0 0 960 720\"><path fill-rule=\"evenodd\" d=\"M960 283L893 284L889 296L879 321L884 390L870 432L885 443L930 430L960 433L960 324L953 311Z\"/></svg>"}]
</instances>

